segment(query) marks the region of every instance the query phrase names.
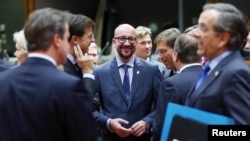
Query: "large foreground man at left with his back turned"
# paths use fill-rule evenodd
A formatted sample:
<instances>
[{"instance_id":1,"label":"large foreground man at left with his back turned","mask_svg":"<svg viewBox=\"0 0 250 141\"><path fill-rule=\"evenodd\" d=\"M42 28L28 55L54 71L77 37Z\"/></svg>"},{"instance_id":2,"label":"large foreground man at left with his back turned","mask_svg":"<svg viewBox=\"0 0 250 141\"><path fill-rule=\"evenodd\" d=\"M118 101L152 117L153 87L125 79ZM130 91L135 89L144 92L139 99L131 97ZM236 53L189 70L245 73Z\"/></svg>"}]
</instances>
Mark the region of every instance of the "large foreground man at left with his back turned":
<instances>
[{"instance_id":1,"label":"large foreground man at left with his back turned","mask_svg":"<svg viewBox=\"0 0 250 141\"><path fill-rule=\"evenodd\" d=\"M29 55L0 74L0 140L94 141L96 124L81 79L59 71L69 48L66 12L32 12L24 26Z\"/></svg>"}]
</instances>

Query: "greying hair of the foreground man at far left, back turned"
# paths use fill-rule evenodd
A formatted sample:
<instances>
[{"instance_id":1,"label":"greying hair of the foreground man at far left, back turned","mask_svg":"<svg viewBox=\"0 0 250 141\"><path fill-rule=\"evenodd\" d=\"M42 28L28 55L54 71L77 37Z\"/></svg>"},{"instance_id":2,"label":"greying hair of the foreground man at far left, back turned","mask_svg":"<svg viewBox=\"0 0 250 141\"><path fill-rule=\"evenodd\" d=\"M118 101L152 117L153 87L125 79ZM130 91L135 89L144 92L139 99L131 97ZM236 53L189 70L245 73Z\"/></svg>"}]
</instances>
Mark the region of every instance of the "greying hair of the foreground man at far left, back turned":
<instances>
[{"instance_id":1,"label":"greying hair of the foreground man at far left, back turned","mask_svg":"<svg viewBox=\"0 0 250 141\"><path fill-rule=\"evenodd\" d=\"M42 8L32 12L24 25L28 51L47 50L55 34L63 38L67 23L66 11Z\"/></svg>"}]
</instances>

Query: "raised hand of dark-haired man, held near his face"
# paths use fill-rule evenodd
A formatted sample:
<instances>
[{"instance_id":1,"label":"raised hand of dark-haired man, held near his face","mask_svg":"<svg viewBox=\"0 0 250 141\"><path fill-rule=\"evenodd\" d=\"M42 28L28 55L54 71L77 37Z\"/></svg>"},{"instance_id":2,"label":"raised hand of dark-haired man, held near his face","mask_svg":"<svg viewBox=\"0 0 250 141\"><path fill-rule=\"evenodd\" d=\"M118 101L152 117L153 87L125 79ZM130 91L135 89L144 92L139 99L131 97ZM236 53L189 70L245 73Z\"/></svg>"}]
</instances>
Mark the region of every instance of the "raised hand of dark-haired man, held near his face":
<instances>
[{"instance_id":1,"label":"raised hand of dark-haired man, held near his face","mask_svg":"<svg viewBox=\"0 0 250 141\"><path fill-rule=\"evenodd\" d=\"M91 55L85 53L83 55L79 45L74 46L74 52L78 66L82 69L82 72L86 74L93 74L94 58Z\"/></svg>"}]
</instances>

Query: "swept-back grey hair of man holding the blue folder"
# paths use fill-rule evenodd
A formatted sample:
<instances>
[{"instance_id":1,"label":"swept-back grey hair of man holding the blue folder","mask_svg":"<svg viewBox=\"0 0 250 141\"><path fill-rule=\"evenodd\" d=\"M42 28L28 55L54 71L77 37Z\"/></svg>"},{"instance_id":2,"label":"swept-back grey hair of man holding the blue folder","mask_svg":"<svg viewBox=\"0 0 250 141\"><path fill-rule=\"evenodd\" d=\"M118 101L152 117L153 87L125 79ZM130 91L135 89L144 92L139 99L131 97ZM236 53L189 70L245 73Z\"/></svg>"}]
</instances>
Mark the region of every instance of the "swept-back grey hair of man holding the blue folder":
<instances>
[{"instance_id":1,"label":"swept-back grey hair of man holding the blue folder","mask_svg":"<svg viewBox=\"0 0 250 141\"><path fill-rule=\"evenodd\" d=\"M219 12L214 30L220 34L228 32L230 34L227 43L229 50L241 49L244 39L247 36L246 21L244 15L235 6L227 3L206 4L203 10L214 9Z\"/></svg>"}]
</instances>

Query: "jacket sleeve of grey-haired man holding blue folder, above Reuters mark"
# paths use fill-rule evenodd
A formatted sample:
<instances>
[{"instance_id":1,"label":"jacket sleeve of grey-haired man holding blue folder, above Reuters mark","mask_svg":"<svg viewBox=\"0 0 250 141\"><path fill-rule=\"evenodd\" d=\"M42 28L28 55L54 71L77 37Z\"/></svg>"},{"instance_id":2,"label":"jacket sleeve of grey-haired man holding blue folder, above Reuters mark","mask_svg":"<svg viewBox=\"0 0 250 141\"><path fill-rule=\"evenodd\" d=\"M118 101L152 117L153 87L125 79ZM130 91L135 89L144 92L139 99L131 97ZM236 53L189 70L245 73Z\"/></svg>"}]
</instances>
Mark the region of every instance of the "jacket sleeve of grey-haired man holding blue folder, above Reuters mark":
<instances>
[{"instance_id":1,"label":"jacket sleeve of grey-haired man holding blue folder, above Reuters mark","mask_svg":"<svg viewBox=\"0 0 250 141\"><path fill-rule=\"evenodd\" d=\"M250 72L240 70L229 79L224 100L236 124L250 124Z\"/></svg>"}]
</instances>

